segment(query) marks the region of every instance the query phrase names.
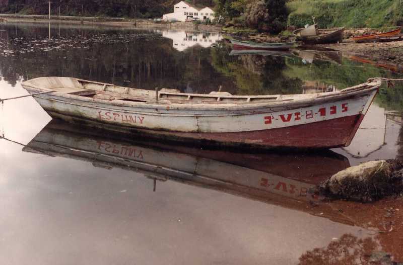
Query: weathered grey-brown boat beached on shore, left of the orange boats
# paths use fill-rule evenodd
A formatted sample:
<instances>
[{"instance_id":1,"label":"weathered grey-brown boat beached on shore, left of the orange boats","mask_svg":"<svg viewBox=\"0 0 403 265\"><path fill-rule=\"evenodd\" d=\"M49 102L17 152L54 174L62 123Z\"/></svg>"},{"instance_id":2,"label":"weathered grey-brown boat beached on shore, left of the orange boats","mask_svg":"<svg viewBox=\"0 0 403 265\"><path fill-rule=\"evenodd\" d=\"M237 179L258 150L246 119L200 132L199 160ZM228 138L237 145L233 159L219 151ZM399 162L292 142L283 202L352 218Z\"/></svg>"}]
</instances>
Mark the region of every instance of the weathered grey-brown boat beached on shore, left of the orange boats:
<instances>
[{"instance_id":1,"label":"weathered grey-brown boat beached on shore, left of the orange boats","mask_svg":"<svg viewBox=\"0 0 403 265\"><path fill-rule=\"evenodd\" d=\"M316 25L312 25L315 26ZM309 27L308 27L309 28ZM297 41L305 44L325 44L343 42L344 27L334 29L316 29L316 35L304 34L307 29L297 29L293 32Z\"/></svg>"}]
</instances>

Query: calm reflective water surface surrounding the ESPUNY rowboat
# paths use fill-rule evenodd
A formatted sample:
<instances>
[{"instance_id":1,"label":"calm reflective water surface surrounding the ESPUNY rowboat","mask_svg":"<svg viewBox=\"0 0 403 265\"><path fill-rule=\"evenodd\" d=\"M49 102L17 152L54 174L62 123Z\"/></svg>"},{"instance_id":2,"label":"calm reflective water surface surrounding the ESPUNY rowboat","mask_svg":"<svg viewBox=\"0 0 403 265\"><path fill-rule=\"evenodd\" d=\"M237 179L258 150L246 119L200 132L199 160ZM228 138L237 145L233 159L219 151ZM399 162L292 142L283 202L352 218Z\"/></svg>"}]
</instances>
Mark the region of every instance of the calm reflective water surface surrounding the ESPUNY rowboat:
<instances>
[{"instance_id":1,"label":"calm reflective water surface surrounding the ESPUNY rowboat","mask_svg":"<svg viewBox=\"0 0 403 265\"><path fill-rule=\"evenodd\" d=\"M218 33L0 24L3 99L27 95L21 82L39 76L261 95L343 89L400 69L335 52L237 54ZM309 154L106 138L51 121L32 98L7 101L0 263L297 264L348 238L351 249L365 239L382 250L375 228L312 189L361 161L401 157L401 117L391 111L401 110L402 88L384 87L352 145Z\"/></svg>"}]
</instances>

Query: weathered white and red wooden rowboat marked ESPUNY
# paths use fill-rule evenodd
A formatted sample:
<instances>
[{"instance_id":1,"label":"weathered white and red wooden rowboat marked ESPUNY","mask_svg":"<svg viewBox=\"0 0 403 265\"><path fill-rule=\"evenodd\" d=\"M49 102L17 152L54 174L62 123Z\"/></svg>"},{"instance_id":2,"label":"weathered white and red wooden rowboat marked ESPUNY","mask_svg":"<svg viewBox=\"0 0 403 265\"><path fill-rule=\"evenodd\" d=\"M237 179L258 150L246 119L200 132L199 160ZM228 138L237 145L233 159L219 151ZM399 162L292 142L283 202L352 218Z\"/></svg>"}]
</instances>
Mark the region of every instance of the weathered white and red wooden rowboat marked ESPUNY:
<instances>
[{"instance_id":1,"label":"weathered white and red wooden rowboat marked ESPUNY","mask_svg":"<svg viewBox=\"0 0 403 265\"><path fill-rule=\"evenodd\" d=\"M374 79L339 92L233 96L155 92L71 77L22 83L55 118L168 141L263 148L348 146L380 84Z\"/></svg>"}]
</instances>

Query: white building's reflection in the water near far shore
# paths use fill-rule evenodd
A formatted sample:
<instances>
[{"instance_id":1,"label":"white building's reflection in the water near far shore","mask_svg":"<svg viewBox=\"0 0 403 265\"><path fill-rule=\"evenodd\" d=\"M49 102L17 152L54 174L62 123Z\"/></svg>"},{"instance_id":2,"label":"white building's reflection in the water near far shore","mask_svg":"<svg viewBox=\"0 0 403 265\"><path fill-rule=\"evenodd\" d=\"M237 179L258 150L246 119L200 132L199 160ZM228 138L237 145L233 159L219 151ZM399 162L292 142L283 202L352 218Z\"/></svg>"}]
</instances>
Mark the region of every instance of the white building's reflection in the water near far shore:
<instances>
[{"instance_id":1,"label":"white building's reflection in the water near far shore","mask_svg":"<svg viewBox=\"0 0 403 265\"><path fill-rule=\"evenodd\" d=\"M222 39L216 32L191 32L166 30L162 32L164 38L173 40L173 47L178 51L184 51L188 47L199 45L208 48Z\"/></svg>"}]
</instances>

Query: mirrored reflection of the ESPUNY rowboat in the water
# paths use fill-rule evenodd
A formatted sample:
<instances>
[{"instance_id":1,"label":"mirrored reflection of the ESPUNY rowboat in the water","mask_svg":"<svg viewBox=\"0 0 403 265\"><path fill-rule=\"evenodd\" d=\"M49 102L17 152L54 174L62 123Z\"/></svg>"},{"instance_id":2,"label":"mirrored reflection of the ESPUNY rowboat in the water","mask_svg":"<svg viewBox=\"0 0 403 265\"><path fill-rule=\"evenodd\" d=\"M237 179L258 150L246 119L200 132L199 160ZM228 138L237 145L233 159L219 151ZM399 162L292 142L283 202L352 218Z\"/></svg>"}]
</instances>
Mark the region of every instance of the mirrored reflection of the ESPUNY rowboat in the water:
<instances>
[{"instance_id":1,"label":"mirrored reflection of the ESPUNY rowboat in the water","mask_svg":"<svg viewBox=\"0 0 403 265\"><path fill-rule=\"evenodd\" d=\"M309 202L317 200L315 186L350 166L346 157L331 151L238 153L133 142L122 140L125 135L109 135L119 139L116 140L102 135L102 130L85 130L54 120L23 150L89 161L106 169L132 170L154 180L202 186L306 212L311 211L306 209ZM315 210L310 213L319 215L323 211ZM337 211L329 210L323 216L333 215Z\"/></svg>"}]
</instances>

